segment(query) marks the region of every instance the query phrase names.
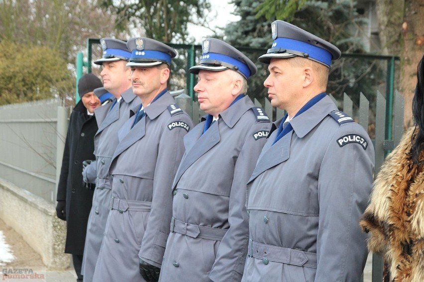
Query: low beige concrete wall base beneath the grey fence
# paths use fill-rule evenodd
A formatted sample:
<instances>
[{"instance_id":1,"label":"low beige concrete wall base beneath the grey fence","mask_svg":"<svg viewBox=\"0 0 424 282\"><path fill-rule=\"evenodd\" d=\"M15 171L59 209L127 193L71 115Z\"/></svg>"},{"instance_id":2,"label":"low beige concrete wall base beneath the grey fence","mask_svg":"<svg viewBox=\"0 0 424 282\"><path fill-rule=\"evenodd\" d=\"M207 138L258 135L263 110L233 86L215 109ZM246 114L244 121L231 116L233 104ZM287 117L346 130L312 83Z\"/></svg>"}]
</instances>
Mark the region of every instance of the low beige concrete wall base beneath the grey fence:
<instances>
[{"instance_id":1,"label":"low beige concrete wall base beneath the grey fence","mask_svg":"<svg viewBox=\"0 0 424 282\"><path fill-rule=\"evenodd\" d=\"M64 270L66 222L56 217L55 206L0 178L0 218L41 255L49 270Z\"/></svg>"}]
</instances>

